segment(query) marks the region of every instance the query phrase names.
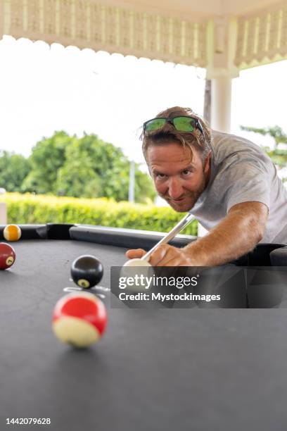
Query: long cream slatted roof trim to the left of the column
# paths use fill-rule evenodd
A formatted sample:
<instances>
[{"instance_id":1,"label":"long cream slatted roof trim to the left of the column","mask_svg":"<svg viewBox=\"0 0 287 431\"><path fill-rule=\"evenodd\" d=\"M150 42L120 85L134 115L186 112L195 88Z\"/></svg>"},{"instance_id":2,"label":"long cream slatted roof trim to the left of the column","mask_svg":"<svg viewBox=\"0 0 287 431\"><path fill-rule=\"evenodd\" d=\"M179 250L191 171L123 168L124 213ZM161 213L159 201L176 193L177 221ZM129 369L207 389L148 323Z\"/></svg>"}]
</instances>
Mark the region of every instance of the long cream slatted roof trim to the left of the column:
<instances>
[{"instance_id":1,"label":"long cream slatted roof trim to the left of the column","mask_svg":"<svg viewBox=\"0 0 287 431\"><path fill-rule=\"evenodd\" d=\"M207 21L194 23L92 0L0 0L0 6L2 35L207 65Z\"/></svg>"}]
</instances>

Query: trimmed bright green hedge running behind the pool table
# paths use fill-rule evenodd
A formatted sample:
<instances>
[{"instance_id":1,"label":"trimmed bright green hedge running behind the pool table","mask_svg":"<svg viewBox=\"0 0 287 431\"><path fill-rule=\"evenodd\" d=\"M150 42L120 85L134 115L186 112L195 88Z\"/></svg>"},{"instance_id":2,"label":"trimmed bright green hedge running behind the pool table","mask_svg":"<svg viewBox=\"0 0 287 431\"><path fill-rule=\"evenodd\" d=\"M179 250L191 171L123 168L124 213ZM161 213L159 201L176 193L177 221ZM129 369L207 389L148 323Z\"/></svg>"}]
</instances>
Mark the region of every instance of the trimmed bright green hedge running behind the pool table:
<instances>
[{"instance_id":1,"label":"trimmed bright green hedge running behind the pool table","mask_svg":"<svg viewBox=\"0 0 287 431\"><path fill-rule=\"evenodd\" d=\"M8 223L84 223L110 227L168 232L183 213L169 207L117 203L109 199L77 199L33 194L7 193ZM196 221L187 226L186 235L197 235Z\"/></svg>"}]
</instances>

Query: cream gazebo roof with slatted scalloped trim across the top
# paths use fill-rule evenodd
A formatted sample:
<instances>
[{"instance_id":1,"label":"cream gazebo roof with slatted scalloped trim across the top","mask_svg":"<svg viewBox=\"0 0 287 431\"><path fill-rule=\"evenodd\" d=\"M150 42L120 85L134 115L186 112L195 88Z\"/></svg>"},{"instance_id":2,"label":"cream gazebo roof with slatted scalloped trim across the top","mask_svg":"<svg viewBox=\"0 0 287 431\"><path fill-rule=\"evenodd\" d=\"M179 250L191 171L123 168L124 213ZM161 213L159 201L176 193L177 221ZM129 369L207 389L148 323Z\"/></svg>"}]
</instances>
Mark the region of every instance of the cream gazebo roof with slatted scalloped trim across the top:
<instances>
[{"instance_id":1,"label":"cream gazebo roof with slatted scalloped trim across the top","mask_svg":"<svg viewBox=\"0 0 287 431\"><path fill-rule=\"evenodd\" d=\"M236 76L287 58L278 0L0 0L0 34Z\"/></svg>"}]
</instances>

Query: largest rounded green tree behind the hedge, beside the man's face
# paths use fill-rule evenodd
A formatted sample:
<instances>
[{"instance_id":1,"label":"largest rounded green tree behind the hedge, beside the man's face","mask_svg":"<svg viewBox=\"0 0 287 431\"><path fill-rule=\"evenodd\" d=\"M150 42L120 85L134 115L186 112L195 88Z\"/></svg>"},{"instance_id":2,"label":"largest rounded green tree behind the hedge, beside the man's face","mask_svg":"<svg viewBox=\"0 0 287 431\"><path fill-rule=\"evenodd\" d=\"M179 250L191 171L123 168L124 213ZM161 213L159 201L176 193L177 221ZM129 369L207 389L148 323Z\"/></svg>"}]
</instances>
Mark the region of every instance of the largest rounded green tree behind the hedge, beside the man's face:
<instances>
[{"instance_id":1,"label":"largest rounded green tree behind the hedge, beside the man's face","mask_svg":"<svg viewBox=\"0 0 287 431\"><path fill-rule=\"evenodd\" d=\"M66 196L101 197L116 201L128 199L129 161L120 148L103 142L96 135L74 139L65 152L65 163L58 170L56 193ZM136 201L154 199L148 176L136 165Z\"/></svg>"}]
</instances>

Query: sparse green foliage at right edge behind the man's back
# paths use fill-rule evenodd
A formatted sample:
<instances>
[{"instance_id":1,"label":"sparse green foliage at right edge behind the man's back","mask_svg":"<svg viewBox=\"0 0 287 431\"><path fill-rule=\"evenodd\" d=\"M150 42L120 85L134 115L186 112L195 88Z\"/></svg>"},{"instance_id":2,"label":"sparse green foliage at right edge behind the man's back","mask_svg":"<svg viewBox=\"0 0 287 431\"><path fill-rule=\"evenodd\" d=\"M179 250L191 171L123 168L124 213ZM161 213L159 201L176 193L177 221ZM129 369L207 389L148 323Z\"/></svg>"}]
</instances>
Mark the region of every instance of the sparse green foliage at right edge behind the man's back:
<instances>
[{"instance_id":1,"label":"sparse green foliage at right edge behind the man's back","mask_svg":"<svg viewBox=\"0 0 287 431\"><path fill-rule=\"evenodd\" d=\"M241 126L241 130L247 132L260 133L263 136L270 136L274 139L274 148L269 146L263 146L263 149L267 152L268 156L272 159L273 163L280 170L287 166L287 135L283 132L281 127L275 125L274 127L256 128ZM283 147L283 148L282 148ZM287 178L283 178L286 181Z\"/></svg>"}]
</instances>

